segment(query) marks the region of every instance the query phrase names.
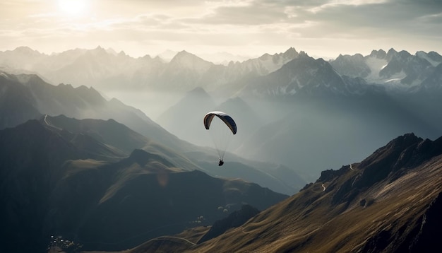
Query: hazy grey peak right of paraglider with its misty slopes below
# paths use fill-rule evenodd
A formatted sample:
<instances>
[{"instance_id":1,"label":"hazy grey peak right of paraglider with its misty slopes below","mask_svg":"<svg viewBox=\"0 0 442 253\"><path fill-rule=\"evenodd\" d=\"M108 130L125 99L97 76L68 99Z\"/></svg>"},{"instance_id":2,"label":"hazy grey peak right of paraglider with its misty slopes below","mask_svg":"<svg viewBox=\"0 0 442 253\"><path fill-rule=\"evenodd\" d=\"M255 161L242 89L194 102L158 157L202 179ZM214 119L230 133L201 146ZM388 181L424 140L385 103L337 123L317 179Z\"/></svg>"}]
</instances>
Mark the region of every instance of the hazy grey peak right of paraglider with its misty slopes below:
<instances>
[{"instance_id":1,"label":"hazy grey peak right of paraglider with its misty slopes below","mask_svg":"<svg viewBox=\"0 0 442 253\"><path fill-rule=\"evenodd\" d=\"M429 81L438 80L434 76ZM328 62L307 54L246 83L242 98L255 100L251 104L273 122L258 124L236 151L249 159L290 165L307 180L327 167L362 159L400 134L442 134L442 121L430 106L439 105L436 99L417 92L390 94L362 78L340 75Z\"/></svg>"}]
</instances>

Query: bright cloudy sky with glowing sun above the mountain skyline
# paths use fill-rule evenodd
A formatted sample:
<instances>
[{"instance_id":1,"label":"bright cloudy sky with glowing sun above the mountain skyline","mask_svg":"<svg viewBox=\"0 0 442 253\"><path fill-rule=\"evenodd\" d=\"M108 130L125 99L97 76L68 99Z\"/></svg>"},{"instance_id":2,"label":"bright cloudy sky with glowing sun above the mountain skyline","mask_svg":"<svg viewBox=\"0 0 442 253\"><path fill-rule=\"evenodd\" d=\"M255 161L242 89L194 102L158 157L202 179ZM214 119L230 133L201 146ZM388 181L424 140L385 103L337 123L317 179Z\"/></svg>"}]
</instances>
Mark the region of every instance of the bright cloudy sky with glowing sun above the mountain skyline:
<instances>
[{"instance_id":1,"label":"bright cloudy sky with glowing sun above the mountain skyline","mask_svg":"<svg viewBox=\"0 0 442 253\"><path fill-rule=\"evenodd\" d=\"M1 0L0 51L442 54L441 0Z\"/></svg>"}]
</instances>

